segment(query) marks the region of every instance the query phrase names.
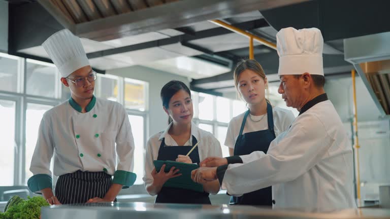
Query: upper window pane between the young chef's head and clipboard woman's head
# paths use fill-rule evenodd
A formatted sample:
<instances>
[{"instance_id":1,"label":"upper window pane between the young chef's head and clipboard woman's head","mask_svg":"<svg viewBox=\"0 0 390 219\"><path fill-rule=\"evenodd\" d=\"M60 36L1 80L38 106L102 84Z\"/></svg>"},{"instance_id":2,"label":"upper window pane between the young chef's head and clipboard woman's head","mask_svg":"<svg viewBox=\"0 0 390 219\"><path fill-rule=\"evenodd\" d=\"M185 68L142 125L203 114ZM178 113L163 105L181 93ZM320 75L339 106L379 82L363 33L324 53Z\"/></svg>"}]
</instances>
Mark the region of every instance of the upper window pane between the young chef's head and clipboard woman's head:
<instances>
[{"instance_id":1,"label":"upper window pane between the young chef's head and clipboard woman's head","mask_svg":"<svg viewBox=\"0 0 390 219\"><path fill-rule=\"evenodd\" d=\"M124 79L124 106L126 108L145 111L146 85L147 83L142 81Z\"/></svg>"}]
</instances>

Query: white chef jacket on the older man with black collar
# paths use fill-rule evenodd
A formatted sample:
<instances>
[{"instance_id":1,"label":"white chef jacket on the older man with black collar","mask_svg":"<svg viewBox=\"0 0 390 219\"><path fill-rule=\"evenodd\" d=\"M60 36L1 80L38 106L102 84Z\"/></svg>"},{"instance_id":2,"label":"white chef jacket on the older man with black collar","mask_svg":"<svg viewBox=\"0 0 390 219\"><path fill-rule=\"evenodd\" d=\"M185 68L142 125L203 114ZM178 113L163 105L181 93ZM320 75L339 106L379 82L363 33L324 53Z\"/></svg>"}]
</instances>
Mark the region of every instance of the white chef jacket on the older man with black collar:
<instances>
[{"instance_id":1,"label":"white chef jacket on the older man with black collar","mask_svg":"<svg viewBox=\"0 0 390 219\"><path fill-rule=\"evenodd\" d=\"M347 133L330 100L298 116L267 154L240 156L228 166L222 189L242 195L272 186L274 208L328 212L356 207L353 154Z\"/></svg>"}]
</instances>

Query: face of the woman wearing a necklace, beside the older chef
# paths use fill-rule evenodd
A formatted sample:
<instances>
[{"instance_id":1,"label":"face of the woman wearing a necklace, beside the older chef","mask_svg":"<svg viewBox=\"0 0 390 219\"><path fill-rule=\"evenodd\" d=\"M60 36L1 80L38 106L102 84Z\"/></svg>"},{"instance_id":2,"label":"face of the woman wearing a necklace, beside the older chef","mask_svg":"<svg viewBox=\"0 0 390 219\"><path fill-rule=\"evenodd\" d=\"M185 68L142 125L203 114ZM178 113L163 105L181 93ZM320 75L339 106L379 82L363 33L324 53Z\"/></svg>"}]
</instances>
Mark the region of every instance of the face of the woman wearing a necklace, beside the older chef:
<instances>
[{"instance_id":1,"label":"face of the woman wearing a necklace, beside the older chef","mask_svg":"<svg viewBox=\"0 0 390 219\"><path fill-rule=\"evenodd\" d=\"M238 90L245 102L251 105L262 103L265 100L265 80L256 72L245 69L238 77Z\"/></svg>"}]
</instances>

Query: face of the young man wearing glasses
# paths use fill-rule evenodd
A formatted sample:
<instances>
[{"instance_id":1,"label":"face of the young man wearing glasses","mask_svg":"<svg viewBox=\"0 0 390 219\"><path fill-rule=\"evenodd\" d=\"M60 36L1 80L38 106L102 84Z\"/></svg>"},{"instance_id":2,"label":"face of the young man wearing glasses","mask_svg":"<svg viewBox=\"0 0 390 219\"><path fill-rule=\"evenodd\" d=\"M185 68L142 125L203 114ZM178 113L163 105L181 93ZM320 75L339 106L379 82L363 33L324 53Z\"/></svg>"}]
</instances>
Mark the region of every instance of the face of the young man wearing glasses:
<instances>
[{"instance_id":1,"label":"face of the young man wearing glasses","mask_svg":"<svg viewBox=\"0 0 390 219\"><path fill-rule=\"evenodd\" d=\"M91 66L87 65L77 69L67 78L61 78L61 82L69 87L76 97L89 99L93 96L95 79L96 73L92 71Z\"/></svg>"}]
</instances>

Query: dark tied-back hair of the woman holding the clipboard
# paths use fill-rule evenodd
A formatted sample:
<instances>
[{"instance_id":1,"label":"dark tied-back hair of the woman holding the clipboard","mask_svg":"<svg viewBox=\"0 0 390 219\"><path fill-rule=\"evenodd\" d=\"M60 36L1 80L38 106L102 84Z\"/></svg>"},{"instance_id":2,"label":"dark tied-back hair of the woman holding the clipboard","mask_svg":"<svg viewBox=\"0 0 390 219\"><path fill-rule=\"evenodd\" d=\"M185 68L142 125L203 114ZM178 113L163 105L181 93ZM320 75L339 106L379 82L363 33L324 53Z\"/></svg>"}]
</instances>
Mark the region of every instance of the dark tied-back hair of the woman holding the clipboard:
<instances>
[{"instance_id":1,"label":"dark tied-back hair of the woman holding the clipboard","mask_svg":"<svg viewBox=\"0 0 390 219\"><path fill-rule=\"evenodd\" d=\"M191 96L191 91L189 90L187 85L185 85L181 81L172 80L167 84L165 84L163 88L161 88L160 97L161 97L161 101L163 101L163 106L165 108L167 109L169 108L169 101L171 100L172 96L175 95L180 90L184 90L185 92L188 93L189 96ZM169 117L168 124L170 124L171 122L172 122L172 118Z\"/></svg>"}]
</instances>

